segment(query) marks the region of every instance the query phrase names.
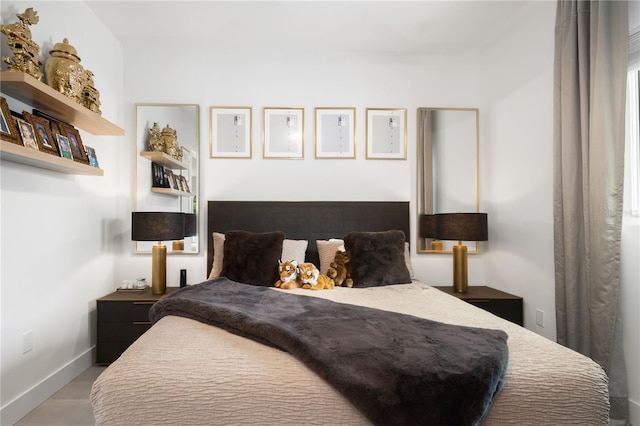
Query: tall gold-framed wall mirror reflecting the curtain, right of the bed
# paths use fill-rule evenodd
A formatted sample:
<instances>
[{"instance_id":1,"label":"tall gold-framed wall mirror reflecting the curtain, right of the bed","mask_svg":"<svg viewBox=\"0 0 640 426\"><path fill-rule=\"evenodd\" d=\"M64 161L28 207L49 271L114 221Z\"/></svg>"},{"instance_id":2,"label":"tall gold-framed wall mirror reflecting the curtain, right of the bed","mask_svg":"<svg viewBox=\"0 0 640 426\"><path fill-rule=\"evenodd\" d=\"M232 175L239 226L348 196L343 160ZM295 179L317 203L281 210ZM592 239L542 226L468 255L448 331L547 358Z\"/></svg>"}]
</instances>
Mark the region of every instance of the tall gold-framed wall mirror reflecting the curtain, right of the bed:
<instances>
[{"instance_id":1,"label":"tall gold-framed wall mirror reflecting the curtain, right of the bed","mask_svg":"<svg viewBox=\"0 0 640 426\"><path fill-rule=\"evenodd\" d=\"M479 114L477 108L418 108L416 229L421 215L479 211ZM418 253L451 253L457 244L416 235ZM478 252L477 242L465 245Z\"/></svg>"}]
</instances>

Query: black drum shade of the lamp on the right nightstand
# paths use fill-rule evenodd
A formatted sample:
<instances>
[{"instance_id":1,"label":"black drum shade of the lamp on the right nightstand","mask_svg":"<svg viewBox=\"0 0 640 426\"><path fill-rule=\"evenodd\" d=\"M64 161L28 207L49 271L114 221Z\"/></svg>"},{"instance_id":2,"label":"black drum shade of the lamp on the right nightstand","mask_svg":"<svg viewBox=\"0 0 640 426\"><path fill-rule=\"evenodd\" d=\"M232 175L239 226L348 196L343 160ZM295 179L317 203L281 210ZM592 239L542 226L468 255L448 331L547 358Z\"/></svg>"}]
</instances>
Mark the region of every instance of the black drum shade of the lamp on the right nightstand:
<instances>
[{"instance_id":1,"label":"black drum shade of the lamp on the right nightstand","mask_svg":"<svg viewBox=\"0 0 640 426\"><path fill-rule=\"evenodd\" d=\"M439 240L487 241L486 213L438 213L435 238Z\"/></svg>"}]
</instances>

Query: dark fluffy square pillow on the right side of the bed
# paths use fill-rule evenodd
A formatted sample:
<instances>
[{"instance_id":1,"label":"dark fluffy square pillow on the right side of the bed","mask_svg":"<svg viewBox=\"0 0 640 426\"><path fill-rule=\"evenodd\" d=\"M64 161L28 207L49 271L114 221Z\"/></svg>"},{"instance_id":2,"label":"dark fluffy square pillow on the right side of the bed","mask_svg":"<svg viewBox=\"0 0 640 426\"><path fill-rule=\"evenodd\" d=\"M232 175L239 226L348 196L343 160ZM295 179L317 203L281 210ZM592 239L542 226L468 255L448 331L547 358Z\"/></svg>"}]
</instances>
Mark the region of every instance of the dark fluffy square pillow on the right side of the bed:
<instances>
[{"instance_id":1,"label":"dark fluffy square pillow on the right side of the bed","mask_svg":"<svg viewBox=\"0 0 640 426\"><path fill-rule=\"evenodd\" d=\"M347 269L354 287L407 284L411 275L404 261L402 231L350 232L344 236Z\"/></svg>"}]
</instances>

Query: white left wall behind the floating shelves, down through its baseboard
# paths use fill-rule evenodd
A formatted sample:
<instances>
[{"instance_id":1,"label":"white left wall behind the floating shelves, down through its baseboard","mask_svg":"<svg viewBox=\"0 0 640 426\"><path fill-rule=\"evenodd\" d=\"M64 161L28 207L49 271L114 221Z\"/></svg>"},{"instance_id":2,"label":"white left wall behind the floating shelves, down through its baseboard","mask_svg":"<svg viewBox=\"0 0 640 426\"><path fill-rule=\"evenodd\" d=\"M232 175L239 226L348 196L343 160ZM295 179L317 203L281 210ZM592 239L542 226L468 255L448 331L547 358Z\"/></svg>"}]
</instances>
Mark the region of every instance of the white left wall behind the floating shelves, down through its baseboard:
<instances>
[{"instance_id":1,"label":"white left wall behind the floating shelves, down through its baseboard","mask_svg":"<svg viewBox=\"0 0 640 426\"><path fill-rule=\"evenodd\" d=\"M122 47L84 3L3 1L2 23L33 6L43 59L64 37L95 74L103 116L122 125ZM1 43L6 45L2 36ZM99 48L96 48L99 46ZM3 51L3 53L5 53ZM3 68L4 69L4 68ZM7 97L7 96L5 96ZM12 110L30 107L8 98ZM69 176L2 161L0 190L0 423L12 424L93 362L95 300L114 288L121 247L122 137L81 131L104 177ZM128 185L126 186L128 189ZM33 350L22 354L22 334Z\"/></svg>"}]
</instances>

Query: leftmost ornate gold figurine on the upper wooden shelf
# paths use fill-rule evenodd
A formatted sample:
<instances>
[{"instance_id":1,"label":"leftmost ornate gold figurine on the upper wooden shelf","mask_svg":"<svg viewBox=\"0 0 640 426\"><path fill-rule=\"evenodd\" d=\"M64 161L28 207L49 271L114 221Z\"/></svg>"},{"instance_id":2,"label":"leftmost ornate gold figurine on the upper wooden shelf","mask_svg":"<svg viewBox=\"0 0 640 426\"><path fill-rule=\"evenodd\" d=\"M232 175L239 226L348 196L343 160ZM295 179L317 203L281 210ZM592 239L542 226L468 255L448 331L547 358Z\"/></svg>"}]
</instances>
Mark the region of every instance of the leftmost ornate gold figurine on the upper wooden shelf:
<instances>
[{"instance_id":1,"label":"leftmost ornate gold figurine on the upper wooden shelf","mask_svg":"<svg viewBox=\"0 0 640 426\"><path fill-rule=\"evenodd\" d=\"M20 22L0 25L0 32L7 36L7 42L14 55L13 57L5 55L2 61L9 65L9 71L24 72L40 80L42 78L40 47L31 40L29 29L30 25L35 25L40 20L38 12L30 7L16 16Z\"/></svg>"}]
</instances>

